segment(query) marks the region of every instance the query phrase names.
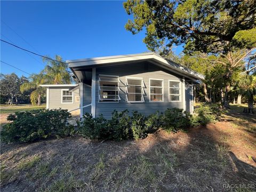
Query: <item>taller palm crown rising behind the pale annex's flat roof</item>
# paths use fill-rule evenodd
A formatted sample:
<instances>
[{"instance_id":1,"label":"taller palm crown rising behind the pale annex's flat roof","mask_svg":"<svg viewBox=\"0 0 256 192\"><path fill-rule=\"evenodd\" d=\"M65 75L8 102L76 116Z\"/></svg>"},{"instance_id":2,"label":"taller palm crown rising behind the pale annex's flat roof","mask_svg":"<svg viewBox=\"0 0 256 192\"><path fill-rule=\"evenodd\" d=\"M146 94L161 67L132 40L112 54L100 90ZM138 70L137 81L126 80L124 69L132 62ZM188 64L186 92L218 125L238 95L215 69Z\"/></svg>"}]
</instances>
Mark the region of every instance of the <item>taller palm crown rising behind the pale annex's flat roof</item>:
<instances>
[{"instance_id":1,"label":"taller palm crown rising behind the pale annex's flat roof","mask_svg":"<svg viewBox=\"0 0 256 192\"><path fill-rule=\"evenodd\" d=\"M50 58L50 57L47 57ZM41 71L44 75L46 84L70 84L72 82L70 71L68 71L68 63L62 61L59 55L55 55L54 60L43 58L46 62L45 68Z\"/></svg>"}]
</instances>

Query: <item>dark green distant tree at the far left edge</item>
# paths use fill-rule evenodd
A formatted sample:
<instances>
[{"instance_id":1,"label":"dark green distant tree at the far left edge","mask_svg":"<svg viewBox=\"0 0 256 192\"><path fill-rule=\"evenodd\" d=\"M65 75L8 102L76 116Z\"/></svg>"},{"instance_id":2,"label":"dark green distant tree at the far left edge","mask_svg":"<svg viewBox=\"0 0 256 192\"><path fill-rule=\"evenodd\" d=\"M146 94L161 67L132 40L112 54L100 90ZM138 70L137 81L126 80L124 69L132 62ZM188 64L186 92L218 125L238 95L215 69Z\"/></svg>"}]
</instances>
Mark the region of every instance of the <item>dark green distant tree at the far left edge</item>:
<instances>
[{"instance_id":1,"label":"dark green distant tree at the far left edge","mask_svg":"<svg viewBox=\"0 0 256 192\"><path fill-rule=\"evenodd\" d=\"M20 94L20 85L21 85L21 80L20 78L12 73L12 74L1 74L0 78L0 83L1 83L1 94L5 95L6 97L9 97L9 102L10 105L13 104L13 99L19 97ZM24 77L22 77L24 79ZM16 99L17 101L17 99Z\"/></svg>"}]
</instances>

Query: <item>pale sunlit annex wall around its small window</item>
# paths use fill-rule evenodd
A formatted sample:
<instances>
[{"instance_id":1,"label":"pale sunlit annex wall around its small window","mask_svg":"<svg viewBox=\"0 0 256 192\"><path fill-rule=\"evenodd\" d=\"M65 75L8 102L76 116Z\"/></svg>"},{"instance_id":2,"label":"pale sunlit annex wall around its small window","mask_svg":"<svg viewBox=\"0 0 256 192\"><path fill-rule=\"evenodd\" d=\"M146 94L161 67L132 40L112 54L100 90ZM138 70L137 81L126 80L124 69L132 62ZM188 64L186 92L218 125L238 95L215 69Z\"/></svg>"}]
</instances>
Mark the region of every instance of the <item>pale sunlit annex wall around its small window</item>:
<instances>
[{"instance_id":1,"label":"pale sunlit annex wall around its small window","mask_svg":"<svg viewBox=\"0 0 256 192\"><path fill-rule=\"evenodd\" d=\"M74 91L73 103L61 103L61 90L69 89L70 87L49 87L49 109L76 109L79 108L80 102L75 100L79 96L79 89Z\"/></svg>"}]
</instances>

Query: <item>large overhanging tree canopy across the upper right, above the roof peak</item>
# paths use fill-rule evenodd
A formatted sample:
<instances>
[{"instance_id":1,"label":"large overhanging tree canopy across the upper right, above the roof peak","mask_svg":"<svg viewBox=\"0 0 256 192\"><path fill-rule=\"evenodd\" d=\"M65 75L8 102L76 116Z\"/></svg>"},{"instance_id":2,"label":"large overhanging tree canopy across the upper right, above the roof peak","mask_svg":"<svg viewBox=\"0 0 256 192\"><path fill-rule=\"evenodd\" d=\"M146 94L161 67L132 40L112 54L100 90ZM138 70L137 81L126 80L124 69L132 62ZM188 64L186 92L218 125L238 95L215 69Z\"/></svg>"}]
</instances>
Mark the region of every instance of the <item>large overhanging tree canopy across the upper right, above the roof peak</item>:
<instances>
[{"instance_id":1,"label":"large overhanging tree canopy across the upper right, above the roof peak","mask_svg":"<svg viewBox=\"0 0 256 192\"><path fill-rule=\"evenodd\" d=\"M124 9L133 15L133 21L129 19L125 28L132 34L146 28L143 41L151 51L163 44L165 50L172 45L185 44L189 52L226 53L234 47L251 48L246 36L252 34L253 38L255 34L252 31L256 26L255 6L255 1L127 0Z\"/></svg>"}]
</instances>

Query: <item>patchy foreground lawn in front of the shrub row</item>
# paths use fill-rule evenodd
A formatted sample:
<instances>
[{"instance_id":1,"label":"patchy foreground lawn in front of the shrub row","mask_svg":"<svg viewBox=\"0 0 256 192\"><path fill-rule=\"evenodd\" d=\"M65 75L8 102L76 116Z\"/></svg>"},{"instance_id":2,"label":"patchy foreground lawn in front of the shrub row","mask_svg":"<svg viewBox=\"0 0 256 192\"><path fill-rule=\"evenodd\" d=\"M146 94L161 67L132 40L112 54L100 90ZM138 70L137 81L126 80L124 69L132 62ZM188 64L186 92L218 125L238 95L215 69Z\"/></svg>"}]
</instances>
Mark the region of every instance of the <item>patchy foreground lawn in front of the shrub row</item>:
<instances>
[{"instance_id":1,"label":"patchy foreground lawn in front of the shrub row","mask_svg":"<svg viewBox=\"0 0 256 192\"><path fill-rule=\"evenodd\" d=\"M1 143L1 191L226 191L223 185L255 185L256 116L234 110L215 124L186 133L159 130L138 141Z\"/></svg>"}]
</instances>

